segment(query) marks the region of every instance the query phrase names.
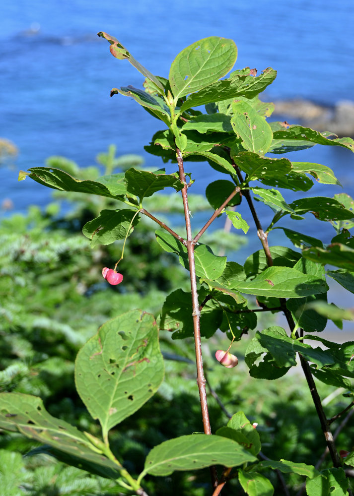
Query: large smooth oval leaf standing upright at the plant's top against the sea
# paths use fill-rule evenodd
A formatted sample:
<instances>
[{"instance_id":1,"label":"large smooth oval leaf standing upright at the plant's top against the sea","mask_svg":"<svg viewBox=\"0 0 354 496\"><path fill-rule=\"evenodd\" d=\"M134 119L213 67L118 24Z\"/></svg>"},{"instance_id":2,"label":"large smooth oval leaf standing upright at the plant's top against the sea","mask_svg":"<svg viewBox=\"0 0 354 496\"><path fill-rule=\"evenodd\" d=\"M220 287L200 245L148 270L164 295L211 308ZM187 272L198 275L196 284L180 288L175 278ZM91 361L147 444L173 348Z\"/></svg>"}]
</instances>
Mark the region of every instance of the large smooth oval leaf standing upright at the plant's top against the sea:
<instances>
[{"instance_id":1,"label":"large smooth oval leaf standing upright at the plant's top against the sea","mask_svg":"<svg viewBox=\"0 0 354 496\"><path fill-rule=\"evenodd\" d=\"M236 59L234 41L218 36L196 41L182 50L172 62L168 76L175 102L220 79Z\"/></svg>"}]
</instances>

